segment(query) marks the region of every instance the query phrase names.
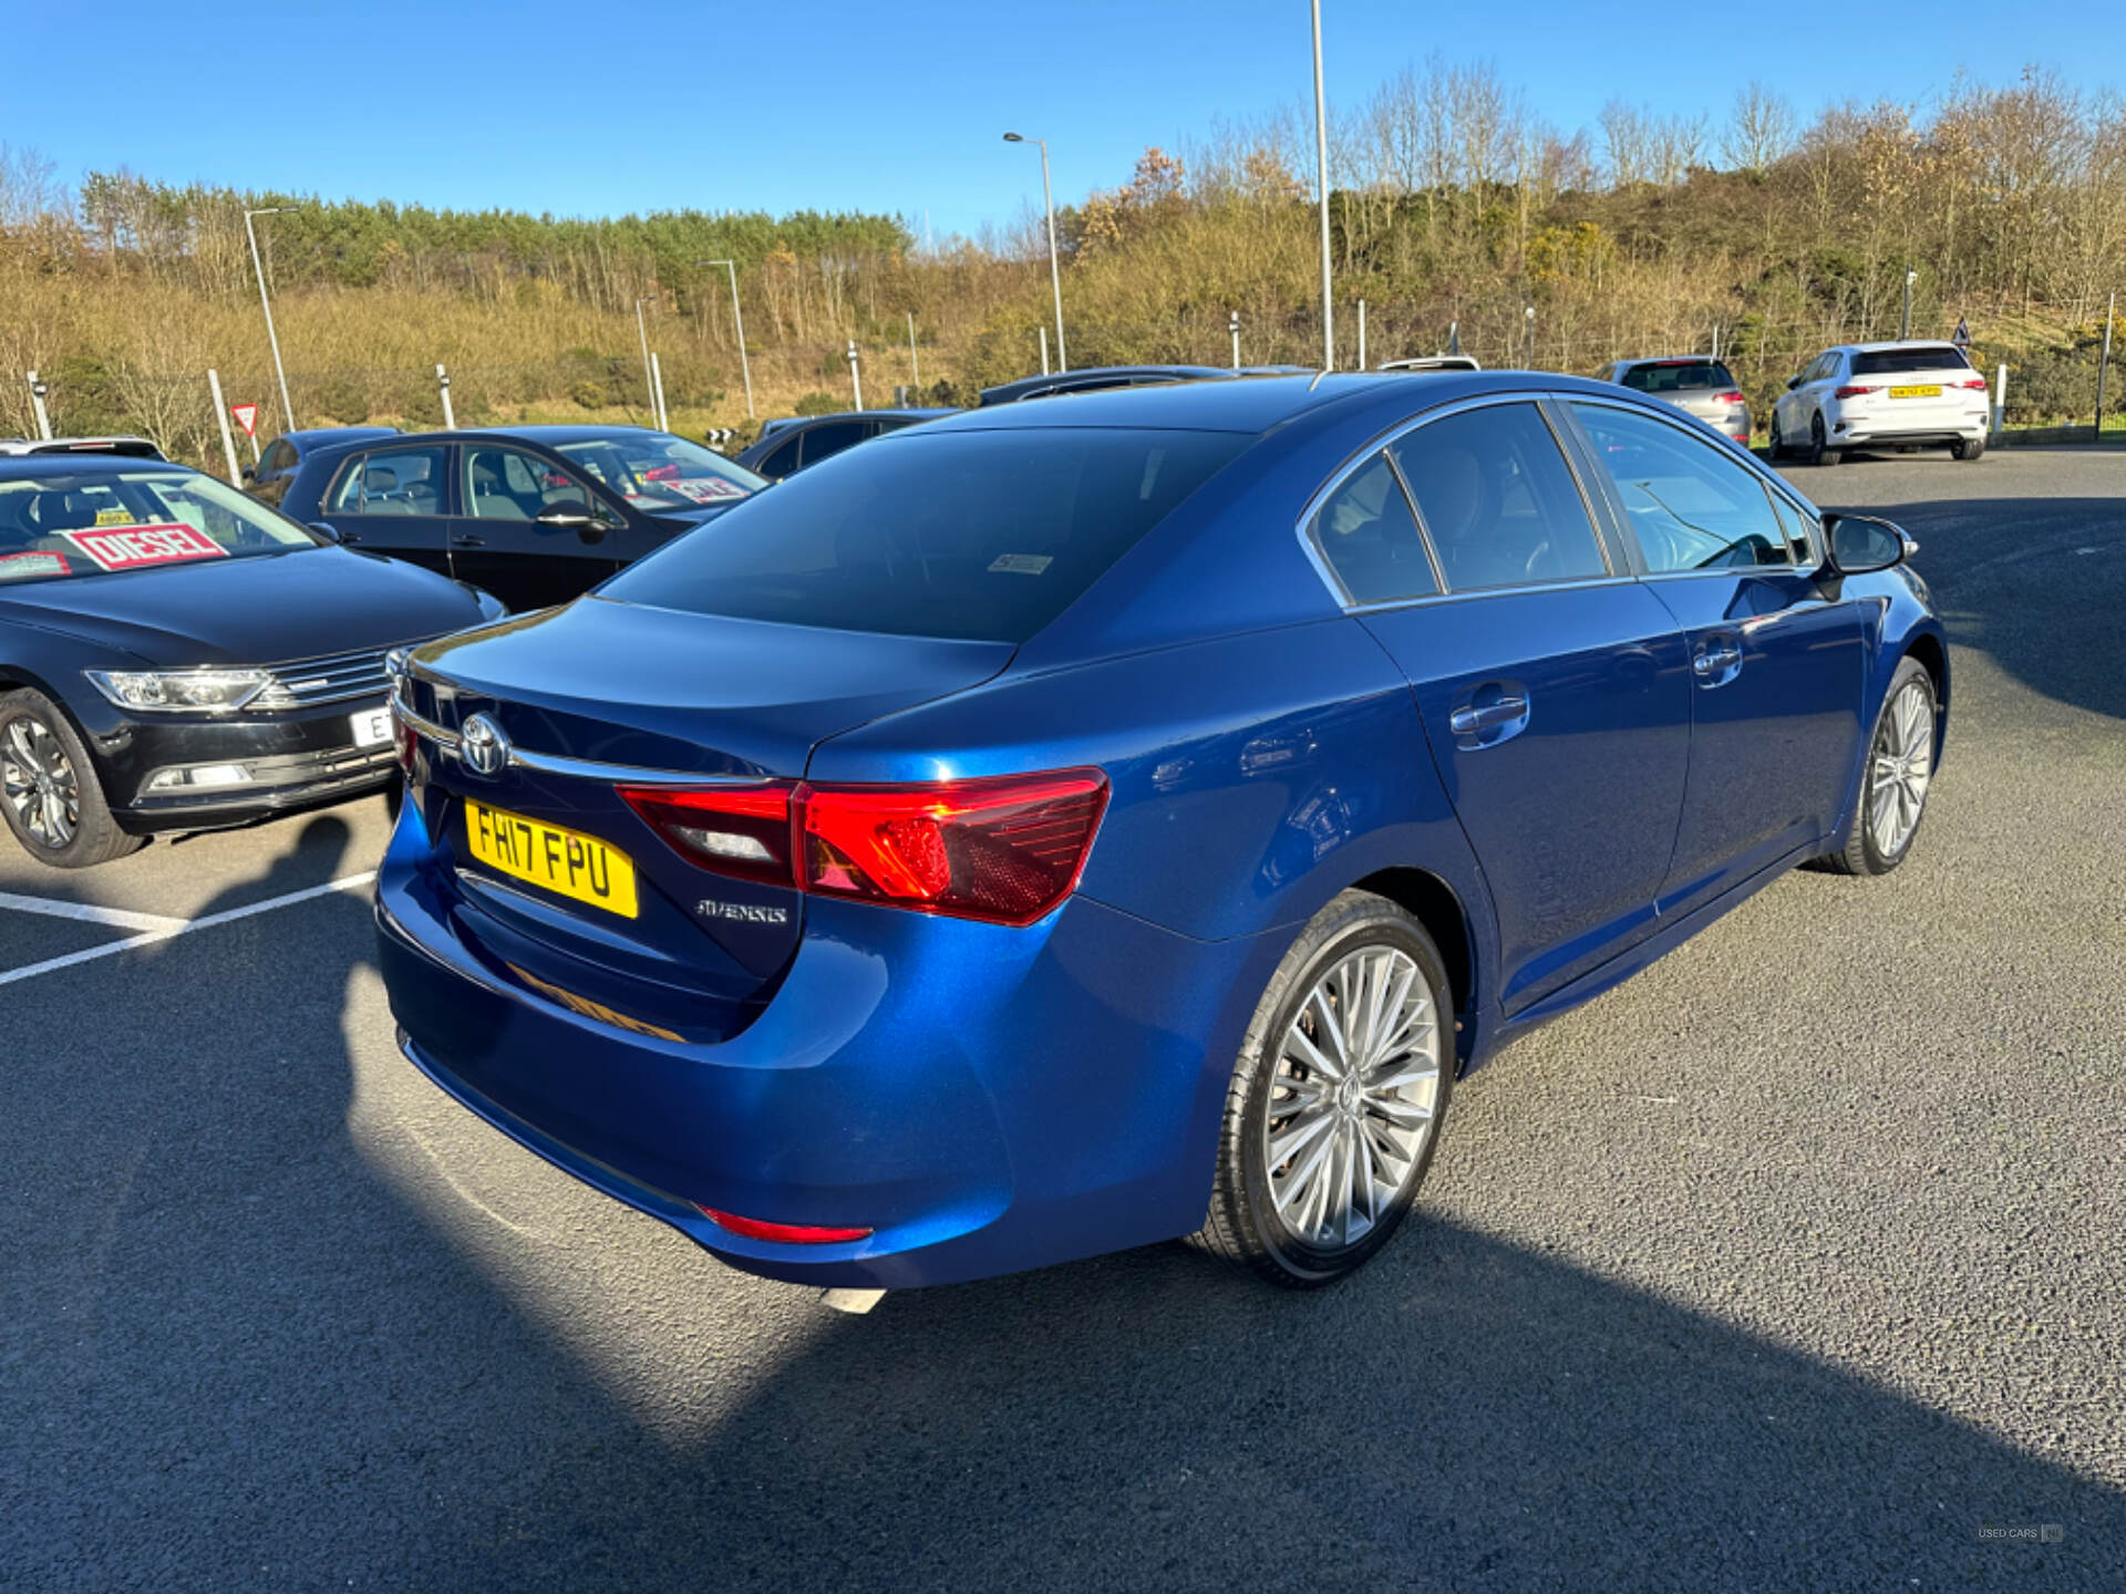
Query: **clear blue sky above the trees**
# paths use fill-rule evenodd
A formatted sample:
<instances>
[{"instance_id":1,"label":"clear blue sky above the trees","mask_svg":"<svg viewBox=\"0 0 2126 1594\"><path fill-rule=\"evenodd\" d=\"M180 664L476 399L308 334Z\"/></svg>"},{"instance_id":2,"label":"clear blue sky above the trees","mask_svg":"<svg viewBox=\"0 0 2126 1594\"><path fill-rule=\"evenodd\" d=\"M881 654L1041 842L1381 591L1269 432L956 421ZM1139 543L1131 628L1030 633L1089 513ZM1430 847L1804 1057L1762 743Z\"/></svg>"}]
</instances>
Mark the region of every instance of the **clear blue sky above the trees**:
<instances>
[{"instance_id":1,"label":"clear blue sky above the trees","mask_svg":"<svg viewBox=\"0 0 2126 1594\"><path fill-rule=\"evenodd\" d=\"M1433 51L1490 60L1565 128L1592 128L1609 98L1718 119L1752 77L1803 117L1845 98L1924 100L1960 66L2007 83L2037 62L2083 89L2126 85L2115 0L1877 0L1850 26L1790 32L1779 11L1324 0L1329 102L1354 104ZM1220 115L1312 104L1303 0L19 0L13 13L0 140L38 149L68 183L132 166L557 215L863 208L921 225L927 210L944 236L1008 225L1040 198L1037 159L1003 145L1006 128L1050 140L1065 200Z\"/></svg>"}]
</instances>

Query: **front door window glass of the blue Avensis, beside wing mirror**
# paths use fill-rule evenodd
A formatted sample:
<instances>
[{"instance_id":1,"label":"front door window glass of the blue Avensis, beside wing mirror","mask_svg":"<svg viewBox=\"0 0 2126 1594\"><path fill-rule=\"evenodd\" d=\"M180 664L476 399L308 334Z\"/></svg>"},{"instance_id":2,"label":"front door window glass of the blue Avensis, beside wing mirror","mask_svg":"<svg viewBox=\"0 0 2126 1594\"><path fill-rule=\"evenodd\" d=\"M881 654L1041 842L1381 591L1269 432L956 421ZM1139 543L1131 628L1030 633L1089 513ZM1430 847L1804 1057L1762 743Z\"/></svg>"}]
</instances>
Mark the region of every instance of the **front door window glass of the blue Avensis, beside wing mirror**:
<instances>
[{"instance_id":1,"label":"front door window glass of the blue Avensis, beside wing mirror","mask_svg":"<svg viewBox=\"0 0 2126 1594\"><path fill-rule=\"evenodd\" d=\"M1624 499L1652 574L1794 561L1765 482L1724 457L1722 444L1607 404L1573 410Z\"/></svg>"}]
</instances>

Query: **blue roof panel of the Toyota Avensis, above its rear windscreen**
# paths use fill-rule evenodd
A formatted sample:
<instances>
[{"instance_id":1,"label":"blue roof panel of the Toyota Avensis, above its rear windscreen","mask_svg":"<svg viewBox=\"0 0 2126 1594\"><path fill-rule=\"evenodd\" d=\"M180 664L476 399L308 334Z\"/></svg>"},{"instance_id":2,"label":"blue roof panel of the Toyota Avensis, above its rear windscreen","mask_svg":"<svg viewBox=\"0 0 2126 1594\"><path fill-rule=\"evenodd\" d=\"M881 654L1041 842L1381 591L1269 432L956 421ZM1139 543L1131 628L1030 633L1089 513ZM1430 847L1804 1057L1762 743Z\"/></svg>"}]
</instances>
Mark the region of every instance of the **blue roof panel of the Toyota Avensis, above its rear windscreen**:
<instances>
[{"instance_id":1,"label":"blue roof panel of the Toyota Avensis, above its rear windscreen","mask_svg":"<svg viewBox=\"0 0 2126 1594\"><path fill-rule=\"evenodd\" d=\"M1229 383L1169 383L1074 393L1069 404L993 404L931 421L921 431L1018 431L1031 427L1165 427L1174 431L1263 434L1312 410L1378 408L1382 425L1412 412L1412 400L1448 404L1480 393L1571 389L1614 393L1614 387L1552 372L1316 372L1314 376L1239 376ZM876 446L893 442L880 440Z\"/></svg>"}]
</instances>

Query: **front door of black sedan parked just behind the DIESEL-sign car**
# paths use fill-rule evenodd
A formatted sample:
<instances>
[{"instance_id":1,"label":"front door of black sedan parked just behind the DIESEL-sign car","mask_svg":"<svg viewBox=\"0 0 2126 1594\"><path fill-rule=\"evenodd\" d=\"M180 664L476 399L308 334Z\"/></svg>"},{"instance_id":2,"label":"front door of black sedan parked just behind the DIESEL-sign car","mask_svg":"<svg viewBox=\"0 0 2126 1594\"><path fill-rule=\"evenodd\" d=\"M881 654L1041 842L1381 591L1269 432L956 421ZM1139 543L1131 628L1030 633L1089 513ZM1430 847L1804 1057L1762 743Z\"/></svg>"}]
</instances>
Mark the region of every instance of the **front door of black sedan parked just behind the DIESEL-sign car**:
<instances>
[{"instance_id":1,"label":"front door of black sedan parked just behind the DIESEL-sign car","mask_svg":"<svg viewBox=\"0 0 2126 1594\"><path fill-rule=\"evenodd\" d=\"M621 567L625 523L559 459L506 442L459 446L459 504L451 521L451 574L512 610L583 595ZM591 525L549 525L549 510L580 506Z\"/></svg>"}]
</instances>

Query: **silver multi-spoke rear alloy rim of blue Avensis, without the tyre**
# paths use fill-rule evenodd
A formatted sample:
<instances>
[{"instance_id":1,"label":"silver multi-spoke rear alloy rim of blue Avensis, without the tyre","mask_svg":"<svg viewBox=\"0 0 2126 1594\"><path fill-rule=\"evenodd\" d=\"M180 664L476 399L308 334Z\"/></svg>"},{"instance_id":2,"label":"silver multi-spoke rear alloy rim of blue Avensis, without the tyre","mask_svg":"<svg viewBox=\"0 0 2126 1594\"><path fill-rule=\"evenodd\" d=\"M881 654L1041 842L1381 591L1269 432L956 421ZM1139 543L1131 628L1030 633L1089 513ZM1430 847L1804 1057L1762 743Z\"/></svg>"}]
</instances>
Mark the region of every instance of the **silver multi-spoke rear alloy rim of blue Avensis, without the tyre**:
<instances>
[{"instance_id":1,"label":"silver multi-spoke rear alloy rim of blue Avensis, without the tyre","mask_svg":"<svg viewBox=\"0 0 2126 1594\"><path fill-rule=\"evenodd\" d=\"M1363 946L1307 993L1284 1031L1263 1116L1263 1165L1284 1226L1342 1250L1382 1222L1437 1133L1439 1024L1407 952Z\"/></svg>"}]
</instances>

